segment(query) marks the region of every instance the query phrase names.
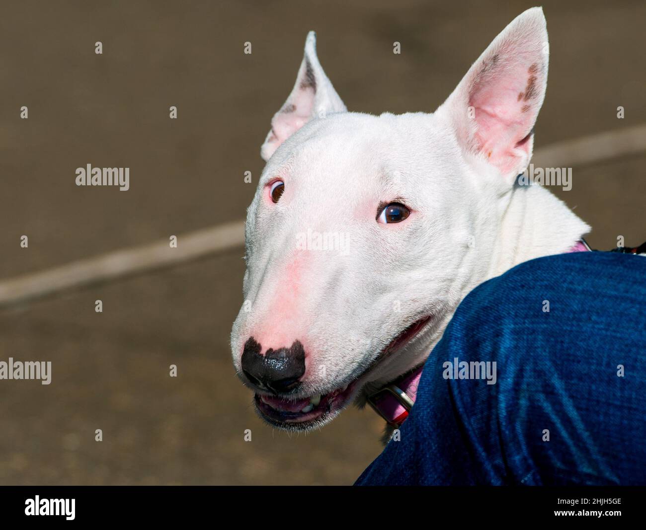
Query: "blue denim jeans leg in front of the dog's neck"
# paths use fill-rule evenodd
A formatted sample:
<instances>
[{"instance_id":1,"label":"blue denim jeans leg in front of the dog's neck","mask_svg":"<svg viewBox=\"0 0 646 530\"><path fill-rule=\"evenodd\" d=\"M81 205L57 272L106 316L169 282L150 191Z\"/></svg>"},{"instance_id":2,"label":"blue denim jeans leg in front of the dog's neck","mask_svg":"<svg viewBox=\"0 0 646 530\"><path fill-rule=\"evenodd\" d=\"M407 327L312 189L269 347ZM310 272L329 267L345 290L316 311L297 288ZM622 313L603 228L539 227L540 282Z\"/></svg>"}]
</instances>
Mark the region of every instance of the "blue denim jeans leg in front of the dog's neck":
<instances>
[{"instance_id":1,"label":"blue denim jeans leg in front of the dog's neck","mask_svg":"<svg viewBox=\"0 0 646 530\"><path fill-rule=\"evenodd\" d=\"M444 379L454 358L497 382ZM548 256L474 289L357 484L646 484L646 258Z\"/></svg>"}]
</instances>

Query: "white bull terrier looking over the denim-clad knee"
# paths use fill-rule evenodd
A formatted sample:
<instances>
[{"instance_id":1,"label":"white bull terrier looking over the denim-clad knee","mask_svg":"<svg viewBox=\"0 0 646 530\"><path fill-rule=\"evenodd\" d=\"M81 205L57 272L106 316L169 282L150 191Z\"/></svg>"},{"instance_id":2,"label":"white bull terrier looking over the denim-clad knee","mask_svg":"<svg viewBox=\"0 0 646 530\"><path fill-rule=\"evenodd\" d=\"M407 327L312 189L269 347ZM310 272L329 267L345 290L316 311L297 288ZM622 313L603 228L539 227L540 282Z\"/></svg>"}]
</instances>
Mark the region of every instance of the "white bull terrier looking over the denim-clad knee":
<instances>
[{"instance_id":1,"label":"white bull terrier looking over the denim-clad knee","mask_svg":"<svg viewBox=\"0 0 646 530\"><path fill-rule=\"evenodd\" d=\"M547 66L545 17L532 8L433 114L371 116L346 110L307 35L262 145L231 333L266 422L309 430L368 401L400 425L464 296L580 244L588 225L545 188L516 182Z\"/></svg>"}]
</instances>

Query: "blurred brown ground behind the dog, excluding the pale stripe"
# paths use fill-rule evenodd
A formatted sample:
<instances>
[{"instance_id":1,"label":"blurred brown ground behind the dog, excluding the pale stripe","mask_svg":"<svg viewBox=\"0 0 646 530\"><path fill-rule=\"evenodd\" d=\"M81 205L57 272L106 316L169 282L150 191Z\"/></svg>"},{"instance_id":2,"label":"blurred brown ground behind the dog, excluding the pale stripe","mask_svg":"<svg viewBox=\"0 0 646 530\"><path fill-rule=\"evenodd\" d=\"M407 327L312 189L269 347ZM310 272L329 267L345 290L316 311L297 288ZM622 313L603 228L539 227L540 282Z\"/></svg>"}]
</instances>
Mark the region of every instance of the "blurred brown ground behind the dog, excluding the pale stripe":
<instances>
[{"instance_id":1,"label":"blurred brown ground behind the dog, excluding the pale stripe","mask_svg":"<svg viewBox=\"0 0 646 530\"><path fill-rule=\"evenodd\" d=\"M308 30L349 110L432 112L533 5L3 1L0 280L244 219ZM646 123L646 4L543 6L550 73L535 149ZM593 248L646 239L645 162L574 167L572 190L553 189L592 225ZM130 190L77 187L88 163L130 167ZM1 311L0 360L51 361L52 383L0 381L0 484L351 484L380 453L375 414L349 409L289 435L256 418L234 374L242 256Z\"/></svg>"}]
</instances>

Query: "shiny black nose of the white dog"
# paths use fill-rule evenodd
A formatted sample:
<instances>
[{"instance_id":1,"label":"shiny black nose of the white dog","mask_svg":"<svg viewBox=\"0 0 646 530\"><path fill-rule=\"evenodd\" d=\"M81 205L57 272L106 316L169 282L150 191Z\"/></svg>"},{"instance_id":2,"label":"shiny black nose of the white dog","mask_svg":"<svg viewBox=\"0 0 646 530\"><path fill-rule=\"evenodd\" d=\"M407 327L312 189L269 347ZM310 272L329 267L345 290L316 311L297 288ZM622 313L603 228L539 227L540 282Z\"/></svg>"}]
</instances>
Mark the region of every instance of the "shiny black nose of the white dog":
<instances>
[{"instance_id":1,"label":"shiny black nose of the white dog","mask_svg":"<svg viewBox=\"0 0 646 530\"><path fill-rule=\"evenodd\" d=\"M242 352L242 372L256 387L274 394L287 392L300 385L305 373L305 350L299 341L289 348L269 348L264 355L262 347L251 337Z\"/></svg>"}]
</instances>

